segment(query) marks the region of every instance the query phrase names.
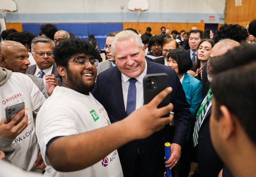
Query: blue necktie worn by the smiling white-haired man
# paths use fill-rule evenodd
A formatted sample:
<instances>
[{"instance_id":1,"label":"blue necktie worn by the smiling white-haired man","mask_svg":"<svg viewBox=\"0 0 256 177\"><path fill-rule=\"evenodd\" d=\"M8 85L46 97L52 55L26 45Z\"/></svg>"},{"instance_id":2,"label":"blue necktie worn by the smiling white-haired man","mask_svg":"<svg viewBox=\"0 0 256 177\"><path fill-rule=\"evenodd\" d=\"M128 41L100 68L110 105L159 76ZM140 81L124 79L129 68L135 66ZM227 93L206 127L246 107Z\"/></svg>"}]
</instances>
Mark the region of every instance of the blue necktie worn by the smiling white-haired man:
<instances>
[{"instance_id":1,"label":"blue necktie worn by the smiling white-haired man","mask_svg":"<svg viewBox=\"0 0 256 177\"><path fill-rule=\"evenodd\" d=\"M136 85L137 82L136 78L129 79L129 88L128 88L128 95L127 95L127 104L126 104L126 113L130 115L136 109Z\"/></svg>"}]
</instances>

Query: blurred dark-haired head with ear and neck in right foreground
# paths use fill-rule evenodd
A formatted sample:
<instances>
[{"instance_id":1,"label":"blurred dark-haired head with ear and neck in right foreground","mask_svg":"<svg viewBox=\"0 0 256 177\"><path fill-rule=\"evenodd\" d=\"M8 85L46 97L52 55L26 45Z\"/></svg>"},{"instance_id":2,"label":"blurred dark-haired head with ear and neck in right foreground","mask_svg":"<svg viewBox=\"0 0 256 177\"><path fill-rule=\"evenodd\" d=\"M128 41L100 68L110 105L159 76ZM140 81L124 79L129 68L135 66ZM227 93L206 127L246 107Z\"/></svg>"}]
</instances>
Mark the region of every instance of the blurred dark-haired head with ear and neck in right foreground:
<instances>
[{"instance_id":1,"label":"blurred dark-haired head with ear and neck in right foreground","mask_svg":"<svg viewBox=\"0 0 256 177\"><path fill-rule=\"evenodd\" d=\"M246 163L256 164L256 46L236 47L213 58L210 64L216 74L210 124L213 145L233 175L245 176L254 168L242 170L243 175L239 168L245 169ZM237 163L238 159L244 162Z\"/></svg>"}]
</instances>

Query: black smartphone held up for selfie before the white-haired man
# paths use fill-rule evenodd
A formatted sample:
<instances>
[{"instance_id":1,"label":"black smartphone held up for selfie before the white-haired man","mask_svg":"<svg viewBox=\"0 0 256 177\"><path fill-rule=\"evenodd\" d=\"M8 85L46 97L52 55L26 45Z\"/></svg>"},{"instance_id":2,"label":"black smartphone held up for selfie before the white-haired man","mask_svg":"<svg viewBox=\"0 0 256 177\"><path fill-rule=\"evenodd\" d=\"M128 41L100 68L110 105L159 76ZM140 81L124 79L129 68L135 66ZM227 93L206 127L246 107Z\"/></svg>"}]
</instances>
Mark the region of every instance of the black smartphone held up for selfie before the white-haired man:
<instances>
[{"instance_id":1,"label":"black smartphone held up for selfie before the white-haired man","mask_svg":"<svg viewBox=\"0 0 256 177\"><path fill-rule=\"evenodd\" d=\"M165 73L148 74L143 79L144 104L148 104L157 94L169 87L169 76ZM165 107L170 103L170 96L158 105L158 108ZM170 114L164 117L169 117Z\"/></svg>"}]
</instances>

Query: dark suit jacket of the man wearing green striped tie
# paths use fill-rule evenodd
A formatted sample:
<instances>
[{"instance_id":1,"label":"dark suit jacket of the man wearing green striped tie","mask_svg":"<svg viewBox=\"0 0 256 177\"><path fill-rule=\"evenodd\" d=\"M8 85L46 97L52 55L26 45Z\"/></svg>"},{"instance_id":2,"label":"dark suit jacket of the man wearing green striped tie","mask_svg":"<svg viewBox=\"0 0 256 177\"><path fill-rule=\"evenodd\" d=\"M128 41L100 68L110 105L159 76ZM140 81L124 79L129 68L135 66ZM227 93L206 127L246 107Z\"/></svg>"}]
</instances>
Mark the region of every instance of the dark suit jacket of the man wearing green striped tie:
<instances>
[{"instance_id":1,"label":"dark suit jacket of the man wearing green striped tie","mask_svg":"<svg viewBox=\"0 0 256 177\"><path fill-rule=\"evenodd\" d=\"M204 96L204 98L207 96ZM201 102L202 103L202 102ZM201 103L199 104L197 110L195 111L195 114L197 114ZM210 116L212 112L212 106L209 108L208 112L205 115L204 122L201 124L201 127L199 129L198 134L198 145L195 148L195 151L197 153L197 162L198 162L198 171L200 177L216 177L218 176L219 172L223 168L223 162L217 155L212 141L210 137ZM193 121L195 122L195 116ZM192 132L193 132L192 128ZM191 137L192 138L192 137ZM228 170L223 171L223 176L230 176L226 172L229 172Z\"/></svg>"}]
</instances>

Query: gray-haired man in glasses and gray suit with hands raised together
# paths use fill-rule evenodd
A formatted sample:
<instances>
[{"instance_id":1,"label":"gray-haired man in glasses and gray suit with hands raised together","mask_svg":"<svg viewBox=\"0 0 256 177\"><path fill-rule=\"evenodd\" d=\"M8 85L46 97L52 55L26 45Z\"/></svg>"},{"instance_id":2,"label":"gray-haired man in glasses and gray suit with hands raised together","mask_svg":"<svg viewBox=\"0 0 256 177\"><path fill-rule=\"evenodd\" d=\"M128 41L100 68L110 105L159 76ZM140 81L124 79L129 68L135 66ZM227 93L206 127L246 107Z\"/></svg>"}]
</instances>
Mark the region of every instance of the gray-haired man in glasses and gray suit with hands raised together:
<instances>
[{"instance_id":1,"label":"gray-haired man in glasses and gray suit with hands raised together","mask_svg":"<svg viewBox=\"0 0 256 177\"><path fill-rule=\"evenodd\" d=\"M28 67L26 74L31 74L42 78L44 83L51 82L52 85L62 85L57 71L57 66L53 58L53 47L55 43L48 37L37 36L32 40L31 53L36 65Z\"/></svg>"}]
</instances>

